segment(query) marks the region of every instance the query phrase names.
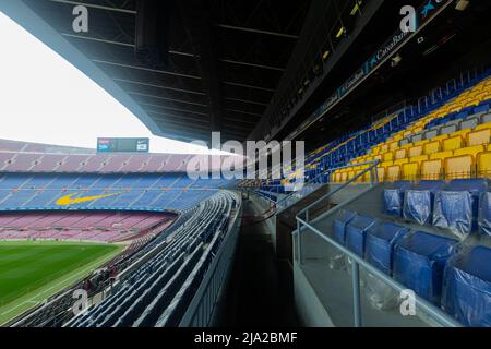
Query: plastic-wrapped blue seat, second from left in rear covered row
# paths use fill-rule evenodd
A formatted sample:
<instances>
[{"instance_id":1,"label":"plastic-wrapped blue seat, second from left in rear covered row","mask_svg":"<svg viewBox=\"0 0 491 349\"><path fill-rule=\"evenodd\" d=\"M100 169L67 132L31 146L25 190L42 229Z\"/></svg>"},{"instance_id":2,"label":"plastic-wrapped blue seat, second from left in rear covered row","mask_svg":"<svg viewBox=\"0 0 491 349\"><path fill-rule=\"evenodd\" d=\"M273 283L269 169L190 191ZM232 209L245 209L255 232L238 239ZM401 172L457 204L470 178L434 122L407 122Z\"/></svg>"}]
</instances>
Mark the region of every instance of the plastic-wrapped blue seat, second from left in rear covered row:
<instances>
[{"instance_id":1,"label":"plastic-wrapped blue seat, second from left in rear covered row","mask_svg":"<svg viewBox=\"0 0 491 349\"><path fill-rule=\"evenodd\" d=\"M421 181L415 188L406 191L404 198L404 218L420 225L431 224L433 215L434 194L445 183L442 181Z\"/></svg>"}]
</instances>

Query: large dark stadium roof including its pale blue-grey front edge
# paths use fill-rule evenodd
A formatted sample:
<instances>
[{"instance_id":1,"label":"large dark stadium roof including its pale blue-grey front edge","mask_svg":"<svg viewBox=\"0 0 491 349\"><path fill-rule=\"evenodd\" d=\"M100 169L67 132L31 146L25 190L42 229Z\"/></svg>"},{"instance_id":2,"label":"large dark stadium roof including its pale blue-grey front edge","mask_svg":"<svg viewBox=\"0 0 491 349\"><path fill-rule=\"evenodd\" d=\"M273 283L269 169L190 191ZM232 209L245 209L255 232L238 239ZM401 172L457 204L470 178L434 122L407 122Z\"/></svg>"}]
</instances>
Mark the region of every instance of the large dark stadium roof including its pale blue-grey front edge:
<instances>
[{"instance_id":1,"label":"large dark stadium roof including its pale blue-grey front edge","mask_svg":"<svg viewBox=\"0 0 491 349\"><path fill-rule=\"evenodd\" d=\"M373 12L382 2L361 3L373 4ZM350 25L342 16L358 17L358 3L19 0L2 8L154 134L207 141L211 131L221 131L223 141L243 141L263 136L260 121L273 118L309 79L314 59L332 51L339 25ZM79 4L88 9L87 33L72 27ZM159 39L153 41L155 33Z\"/></svg>"}]
</instances>

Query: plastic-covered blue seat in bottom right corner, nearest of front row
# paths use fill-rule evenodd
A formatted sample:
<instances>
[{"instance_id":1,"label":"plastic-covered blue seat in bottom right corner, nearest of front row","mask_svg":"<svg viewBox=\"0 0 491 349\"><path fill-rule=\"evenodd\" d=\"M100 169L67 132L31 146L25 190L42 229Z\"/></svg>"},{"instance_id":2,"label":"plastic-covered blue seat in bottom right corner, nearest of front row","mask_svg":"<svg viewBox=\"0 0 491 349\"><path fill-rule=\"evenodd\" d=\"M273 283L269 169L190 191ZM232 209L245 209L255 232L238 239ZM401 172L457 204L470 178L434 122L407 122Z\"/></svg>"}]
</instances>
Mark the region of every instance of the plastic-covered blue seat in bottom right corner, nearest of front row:
<instances>
[{"instance_id":1,"label":"plastic-covered blue seat in bottom right corner, nearest of front row","mask_svg":"<svg viewBox=\"0 0 491 349\"><path fill-rule=\"evenodd\" d=\"M491 249L476 246L445 268L442 308L463 325L491 327Z\"/></svg>"}]
</instances>

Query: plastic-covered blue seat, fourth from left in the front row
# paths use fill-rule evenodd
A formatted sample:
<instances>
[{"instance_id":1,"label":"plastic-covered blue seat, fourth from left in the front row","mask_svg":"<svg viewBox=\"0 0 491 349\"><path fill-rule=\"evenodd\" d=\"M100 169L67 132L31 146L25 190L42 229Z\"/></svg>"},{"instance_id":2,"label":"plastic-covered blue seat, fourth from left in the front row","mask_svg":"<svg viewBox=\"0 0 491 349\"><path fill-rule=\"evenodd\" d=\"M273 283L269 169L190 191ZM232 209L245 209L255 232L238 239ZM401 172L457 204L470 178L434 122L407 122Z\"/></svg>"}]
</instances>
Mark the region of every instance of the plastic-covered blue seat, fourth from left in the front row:
<instances>
[{"instance_id":1,"label":"plastic-covered blue seat, fourth from left in the front row","mask_svg":"<svg viewBox=\"0 0 491 349\"><path fill-rule=\"evenodd\" d=\"M426 300L440 304L443 270L457 240L417 231L394 249L394 278Z\"/></svg>"}]
</instances>

